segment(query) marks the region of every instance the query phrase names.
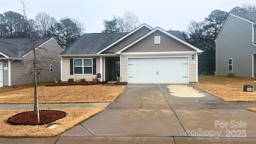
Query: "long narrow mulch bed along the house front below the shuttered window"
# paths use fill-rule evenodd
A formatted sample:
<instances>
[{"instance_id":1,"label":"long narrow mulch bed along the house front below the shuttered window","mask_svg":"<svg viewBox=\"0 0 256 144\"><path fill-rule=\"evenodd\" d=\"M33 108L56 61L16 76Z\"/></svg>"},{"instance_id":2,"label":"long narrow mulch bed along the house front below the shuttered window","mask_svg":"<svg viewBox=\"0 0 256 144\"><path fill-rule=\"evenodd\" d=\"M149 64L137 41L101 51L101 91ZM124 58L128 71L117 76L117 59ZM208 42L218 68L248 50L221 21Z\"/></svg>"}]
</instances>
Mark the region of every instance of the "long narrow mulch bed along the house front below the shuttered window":
<instances>
[{"instance_id":1,"label":"long narrow mulch bed along the house front below the shuttered window","mask_svg":"<svg viewBox=\"0 0 256 144\"><path fill-rule=\"evenodd\" d=\"M72 86L72 85L95 85L95 84L106 84L107 82L93 82L93 81L88 81L88 82L61 82L61 83L53 83L53 84L47 84L45 86Z\"/></svg>"}]
</instances>

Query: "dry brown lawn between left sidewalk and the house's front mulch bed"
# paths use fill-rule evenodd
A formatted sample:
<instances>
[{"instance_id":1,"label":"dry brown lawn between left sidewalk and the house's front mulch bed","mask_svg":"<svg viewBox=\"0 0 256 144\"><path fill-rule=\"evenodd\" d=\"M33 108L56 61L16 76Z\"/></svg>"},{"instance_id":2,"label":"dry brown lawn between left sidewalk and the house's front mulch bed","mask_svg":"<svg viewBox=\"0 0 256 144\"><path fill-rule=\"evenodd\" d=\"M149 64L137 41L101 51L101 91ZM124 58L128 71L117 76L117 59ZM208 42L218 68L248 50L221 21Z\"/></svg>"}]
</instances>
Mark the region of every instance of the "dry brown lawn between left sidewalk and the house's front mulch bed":
<instances>
[{"instance_id":1,"label":"dry brown lawn between left sidewalk and the house's front mulch bed","mask_svg":"<svg viewBox=\"0 0 256 144\"><path fill-rule=\"evenodd\" d=\"M125 86L42 86L38 87L39 103L113 102ZM11 89L11 90L10 90ZM33 104L34 88L0 89L2 104ZM44 93L44 96L42 94Z\"/></svg>"}]
</instances>

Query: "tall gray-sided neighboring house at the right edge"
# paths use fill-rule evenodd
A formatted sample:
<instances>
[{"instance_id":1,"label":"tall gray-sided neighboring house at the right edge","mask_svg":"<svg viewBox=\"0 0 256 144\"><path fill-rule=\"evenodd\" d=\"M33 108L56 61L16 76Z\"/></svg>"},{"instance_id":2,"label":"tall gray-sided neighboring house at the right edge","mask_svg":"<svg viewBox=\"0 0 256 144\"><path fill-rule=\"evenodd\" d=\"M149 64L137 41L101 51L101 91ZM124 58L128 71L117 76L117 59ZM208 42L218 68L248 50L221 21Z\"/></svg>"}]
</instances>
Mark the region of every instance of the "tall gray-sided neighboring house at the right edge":
<instances>
[{"instance_id":1,"label":"tall gray-sided neighboring house at the right edge","mask_svg":"<svg viewBox=\"0 0 256 144\"><path fill-rule=\"evenodd\" d=\"M230 14L216 38L216 75L255 77L256 12Z\"/></svg>"}]
</instances>

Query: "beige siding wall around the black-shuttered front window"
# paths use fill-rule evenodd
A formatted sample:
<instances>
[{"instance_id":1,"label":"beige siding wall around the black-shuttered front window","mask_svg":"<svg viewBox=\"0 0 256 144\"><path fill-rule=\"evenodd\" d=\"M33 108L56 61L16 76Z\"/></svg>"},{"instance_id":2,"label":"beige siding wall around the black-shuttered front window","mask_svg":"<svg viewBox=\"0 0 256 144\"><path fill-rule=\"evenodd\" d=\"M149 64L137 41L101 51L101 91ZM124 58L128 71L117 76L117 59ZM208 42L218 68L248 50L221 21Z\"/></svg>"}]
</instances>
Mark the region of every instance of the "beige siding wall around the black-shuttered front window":
<instances>
[{"instance_id":1,"label":"beige siding wall around the black-shuttered front window","mask_svg":"<svg viewBox=\"0 0 256 144\"><path fill-rule=\"evenodd\" d=\"M100 73L100 57L62 57L62 81L67 82L69 78L84 78L86 81L92 81L92 79L95 78L96 74L70 75L70 59L83 58L96 58L96 74Z\"/></svg>"}]
</instances>

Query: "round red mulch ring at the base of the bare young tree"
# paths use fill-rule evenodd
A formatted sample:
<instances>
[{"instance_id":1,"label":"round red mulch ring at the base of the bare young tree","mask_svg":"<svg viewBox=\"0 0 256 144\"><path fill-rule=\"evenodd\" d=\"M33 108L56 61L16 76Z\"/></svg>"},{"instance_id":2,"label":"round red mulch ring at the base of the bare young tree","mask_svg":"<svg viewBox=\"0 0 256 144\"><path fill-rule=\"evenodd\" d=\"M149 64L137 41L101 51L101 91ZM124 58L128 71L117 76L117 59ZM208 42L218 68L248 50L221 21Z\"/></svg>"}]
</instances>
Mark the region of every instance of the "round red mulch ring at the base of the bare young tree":
<instances>
[{"instance_id":1,"label":"round red mulch ring at the base of the bare young tree","mask_svg":"<svg viewBox=\"0 0 256 144\"><path fill-rule=\"evenodd\" d=\"M8 118L7 122L14 125L42 125L54 122L60 118L66 116L65 112L59 110L40 110L39 117L40 123L38 123L38 118L34 115L34 111L22 112Z\"/></svg>"}]
</instances>

